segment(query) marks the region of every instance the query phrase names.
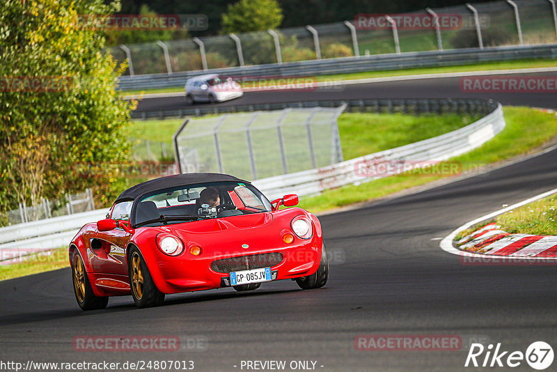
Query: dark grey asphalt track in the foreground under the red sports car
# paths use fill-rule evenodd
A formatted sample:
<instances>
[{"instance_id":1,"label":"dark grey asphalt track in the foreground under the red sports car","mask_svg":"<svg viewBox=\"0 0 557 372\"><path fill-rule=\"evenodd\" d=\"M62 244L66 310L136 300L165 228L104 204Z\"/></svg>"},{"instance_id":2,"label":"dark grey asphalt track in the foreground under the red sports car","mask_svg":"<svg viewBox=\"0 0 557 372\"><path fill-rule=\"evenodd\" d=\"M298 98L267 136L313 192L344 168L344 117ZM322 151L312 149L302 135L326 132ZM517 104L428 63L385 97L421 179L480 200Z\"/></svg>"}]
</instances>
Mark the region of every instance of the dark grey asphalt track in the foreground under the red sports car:
<instances>
[{"instance_id":1,"label":"dark grey asphalt track in the foreground under the red sports car","mask_svg":"<svg viewBox=\"0 0 557 372\"><path fill-rule=\"evenodd\" d=\"M415 94L442 95L436 87L446 84L429 80L427 91L416 88ZM350 92L350 98L357 97ZM393 98L390 93L382 97ZM494 98L557 108L555 95ZM278 281L252 293L223 289L167 296L164 306L151 309L136 309L131 297L118 297L107 309L83 312L74 300L69 269L2 281L0 361L193 360L195 371L246 371L240 369L242 360L285 360L285 371L291 371L290 361L313 360L317 371L464 371L466 347L368 351L356 350L354 339L453 334L464 343L487 337L508 351L525 352L533 341L556 348L554 266L464 264L432 240L503 204L555 187L557 150L552 150L418 194L322 216L334 259L327 286L318 290ZM200 337L206 348L74 351L72 340L84 335ZM513 370L533 371L526 362Z\"/></svg>"}]
</instances>

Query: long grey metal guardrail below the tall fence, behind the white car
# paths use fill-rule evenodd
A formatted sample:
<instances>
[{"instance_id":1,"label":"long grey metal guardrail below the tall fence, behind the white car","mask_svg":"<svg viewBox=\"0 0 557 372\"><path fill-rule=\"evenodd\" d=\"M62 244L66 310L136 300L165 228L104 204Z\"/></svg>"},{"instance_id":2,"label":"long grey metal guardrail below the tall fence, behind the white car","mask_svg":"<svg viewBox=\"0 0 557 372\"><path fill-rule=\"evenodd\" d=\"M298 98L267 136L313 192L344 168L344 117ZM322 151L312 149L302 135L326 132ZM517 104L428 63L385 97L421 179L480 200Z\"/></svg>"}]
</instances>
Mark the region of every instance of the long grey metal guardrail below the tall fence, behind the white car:
<instances>
[{"instance_id":1,"label":"long grey metal guardrail below the tall fence, behind the white car","mask_svg":"<svg viewBox=\"0 0 557 372\"><path fill-rule=\"evenodd\" d=\"M282 64L273 63L268 65L218 68L207 71L175 72L171 75L122 76L119 78L118 89L134 91L152 88L183 87L187 79L207 73L217 73L230 77L301 77L399 70L402 68L467 65L471 63L512 61L517 59L557 59L557 44L378 54Z\"/></svg>"}]
</instances>

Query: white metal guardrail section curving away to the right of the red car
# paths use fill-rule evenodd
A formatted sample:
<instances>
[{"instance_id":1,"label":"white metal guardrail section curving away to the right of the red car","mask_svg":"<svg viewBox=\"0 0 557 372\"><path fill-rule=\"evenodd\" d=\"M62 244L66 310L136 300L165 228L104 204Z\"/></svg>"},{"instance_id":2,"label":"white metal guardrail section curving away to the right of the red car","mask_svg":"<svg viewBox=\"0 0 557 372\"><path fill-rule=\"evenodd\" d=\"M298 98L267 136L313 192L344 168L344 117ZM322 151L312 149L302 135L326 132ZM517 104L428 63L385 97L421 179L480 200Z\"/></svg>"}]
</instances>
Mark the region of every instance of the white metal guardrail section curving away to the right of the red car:
<instances>
[{"instance_id":1,"label":"white metal guardrail section curving away to the right of the red car","mask_svg":"<svg viewBox=\"0 0 557 372\"><path fill-rule=\"evenodd\" d=\"M490 114L453 132L319 169L255 180L253 185L256 185L270 199L280 198L291 193L300 196L313 195L320 194L326 189L365 183L389 176L389 174L362 176L358 171L362 166L364 167L363 173L365 173L366 167L374 167L377 164L447 160L481 146L503 130L505 118L501 104L495 102L488 104L492 108Z\"/></svg>"}]
</instances>

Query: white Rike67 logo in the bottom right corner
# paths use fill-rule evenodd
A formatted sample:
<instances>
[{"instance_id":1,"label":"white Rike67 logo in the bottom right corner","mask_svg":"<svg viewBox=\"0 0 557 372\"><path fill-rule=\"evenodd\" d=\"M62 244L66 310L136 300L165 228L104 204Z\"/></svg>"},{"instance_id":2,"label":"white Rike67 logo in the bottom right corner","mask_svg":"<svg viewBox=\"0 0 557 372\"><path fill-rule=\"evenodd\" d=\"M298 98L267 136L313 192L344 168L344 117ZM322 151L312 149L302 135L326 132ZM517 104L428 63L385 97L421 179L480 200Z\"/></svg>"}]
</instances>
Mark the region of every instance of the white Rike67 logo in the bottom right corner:
<instances>
[{"instance_id":1,"label":"white Rike67 logo in the bottom right corner","mask_svg":"<svg viewBox=\"0 0 557 372\"><path fill-rule=\"evenodd\" d=\"M515 368L524 365L526 361L533 369L542 371L551 366L553 359L553 348L544 341L531 343L526 352L503 350L501 343L497 343L495 347L490 343L487 348L481 343L473 343L464 366Z\"/></svg>"}]
</instances>

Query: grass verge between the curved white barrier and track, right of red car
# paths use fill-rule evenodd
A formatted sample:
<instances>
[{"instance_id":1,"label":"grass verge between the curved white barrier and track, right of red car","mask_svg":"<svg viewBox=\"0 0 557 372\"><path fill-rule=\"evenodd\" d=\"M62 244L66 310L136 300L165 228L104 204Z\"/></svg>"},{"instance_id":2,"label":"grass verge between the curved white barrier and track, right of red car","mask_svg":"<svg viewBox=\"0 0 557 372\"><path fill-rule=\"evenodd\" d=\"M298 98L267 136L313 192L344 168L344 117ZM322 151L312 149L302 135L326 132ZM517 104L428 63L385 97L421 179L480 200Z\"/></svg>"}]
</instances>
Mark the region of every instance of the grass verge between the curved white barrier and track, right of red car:
<instances>
[{"instance_id":1,"label":"grass verge between the curved white barrier and track, right of red car","mask_svg":"<svg viewBox=\"0 0 557 372\"><path fill-rule=\"evenodd\" d=\"M505 107L504 113L507 125L501 133L483 146L451 159L462 164L462 171L471 171L487 164L533 153L557 134L557 118L554 114L526 107ZM323 212L352 203L372 201L409 187L424 185L446 177L450 177L450 175L401 174L390 176L361 185L329 189L318 196L301 198L300 206L311 212Z\"/></svg>"}]
</instances>

